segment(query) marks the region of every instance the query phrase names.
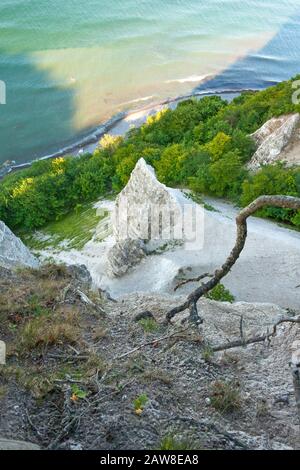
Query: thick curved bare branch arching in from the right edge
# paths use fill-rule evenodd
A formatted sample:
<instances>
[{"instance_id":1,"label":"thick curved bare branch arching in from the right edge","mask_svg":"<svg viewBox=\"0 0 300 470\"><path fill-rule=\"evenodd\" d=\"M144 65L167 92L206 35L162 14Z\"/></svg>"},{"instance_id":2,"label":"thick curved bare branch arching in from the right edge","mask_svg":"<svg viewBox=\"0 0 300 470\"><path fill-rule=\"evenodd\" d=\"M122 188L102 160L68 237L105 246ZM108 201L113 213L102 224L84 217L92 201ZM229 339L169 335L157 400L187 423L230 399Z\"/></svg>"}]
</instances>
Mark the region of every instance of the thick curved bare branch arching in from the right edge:
<instances>
[{"instance_id":1,"label":"thick curved bare branch arching in from the right edge","mask_svg":"<svg viewBox=\"0 0 300 470\"><path fill-rule=\"evenodd\" d=\"M257 212L259 209L267 206L281 207L284 209L295 209L300 210L300 198L292 196L261 196L256 199L254 202L245 207L236 217L236 242L235 245L226 259L225 263L221 268L217 269L213 277L206 283L201 284L197 289L195 289L186 299L186 301L179 305L178 307L170 310L167 315L167 321L171 321L172 318L184 310L190 309L192 306L193 318L195 320L195 310L197 311L197 302L201 297L210 292L214 287L216 287L220 281L227 276L231 271L232 267L239 259L241 252L243 251L247 239L247 219ZM196 323L200 323L201 320L198 317Z\"/></svg>"}]
</instances>

